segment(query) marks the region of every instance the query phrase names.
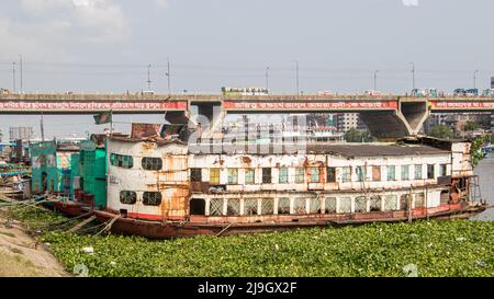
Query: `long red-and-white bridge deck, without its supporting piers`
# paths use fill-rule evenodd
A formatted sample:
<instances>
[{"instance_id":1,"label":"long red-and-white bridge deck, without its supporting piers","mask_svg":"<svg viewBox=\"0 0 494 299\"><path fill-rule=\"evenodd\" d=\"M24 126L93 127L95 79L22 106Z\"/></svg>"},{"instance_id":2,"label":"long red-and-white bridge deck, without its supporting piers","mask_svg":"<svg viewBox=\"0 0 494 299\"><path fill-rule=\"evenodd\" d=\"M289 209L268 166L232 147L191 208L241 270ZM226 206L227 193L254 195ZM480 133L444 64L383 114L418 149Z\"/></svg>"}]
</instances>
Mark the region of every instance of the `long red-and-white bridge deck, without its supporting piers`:
<instances>
[{"instance_id":1,"label":"long red-and-white bridge deck, without its supporting piers","mask_svg":"<svg viewBox=\"0 0 494 299\"><path fill-rule=\"evenodd\" d=\"M428 103L430 111L494 111L494 96L413 97L407 95L366 94L82 94L36 93L0 94L0 114L60 113L85 114L113 110L114 113L161 113L187 111L192 104L217 103L229 112L313 112L313 111L396 111L400 103Z\"/></svg>"}]
</instances>

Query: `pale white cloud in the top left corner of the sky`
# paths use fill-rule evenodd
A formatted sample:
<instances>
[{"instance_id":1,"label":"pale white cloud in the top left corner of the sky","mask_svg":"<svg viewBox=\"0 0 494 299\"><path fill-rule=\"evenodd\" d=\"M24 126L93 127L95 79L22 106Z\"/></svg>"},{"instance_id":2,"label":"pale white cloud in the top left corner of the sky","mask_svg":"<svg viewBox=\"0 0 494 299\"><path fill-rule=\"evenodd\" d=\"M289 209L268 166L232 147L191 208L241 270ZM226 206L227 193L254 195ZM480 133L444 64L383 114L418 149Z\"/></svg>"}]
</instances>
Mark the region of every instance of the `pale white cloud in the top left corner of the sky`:
<instances>
[{"instance_id":1,"label":"pale white cloud in the top left corner of the sky","mask_svg":"<svg viewBox=\"0 0 494 299\"><path fill-rule=\"evenodd\" d=\"M22 18L0 15L0 59L69 59L77 46L123 45L131 27L116 0L21 0Z\"/></svg>"}]
</instances>

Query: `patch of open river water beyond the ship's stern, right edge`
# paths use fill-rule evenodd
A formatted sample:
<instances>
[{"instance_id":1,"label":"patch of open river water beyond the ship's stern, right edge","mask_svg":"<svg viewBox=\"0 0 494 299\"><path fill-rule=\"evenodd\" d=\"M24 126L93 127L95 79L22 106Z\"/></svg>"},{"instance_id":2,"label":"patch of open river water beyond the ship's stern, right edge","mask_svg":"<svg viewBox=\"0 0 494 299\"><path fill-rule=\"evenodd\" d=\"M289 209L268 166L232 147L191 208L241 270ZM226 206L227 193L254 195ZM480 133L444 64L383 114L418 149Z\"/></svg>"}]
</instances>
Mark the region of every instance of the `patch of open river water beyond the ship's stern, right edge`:
<instances>
[{"instance_id":1,"label":"patch of open river water beyond the ship's stern, right edge","mask_svg":"<svg viewBox=\"0 0 494 299\"><path fill-rule=\"evenodd\" d=\"M479 175L482 198L494 205L494 153L483 159L473 173ZM492 221L494 220L494 208L487 209L472 219Z\"/></svg>"}]
</instances>

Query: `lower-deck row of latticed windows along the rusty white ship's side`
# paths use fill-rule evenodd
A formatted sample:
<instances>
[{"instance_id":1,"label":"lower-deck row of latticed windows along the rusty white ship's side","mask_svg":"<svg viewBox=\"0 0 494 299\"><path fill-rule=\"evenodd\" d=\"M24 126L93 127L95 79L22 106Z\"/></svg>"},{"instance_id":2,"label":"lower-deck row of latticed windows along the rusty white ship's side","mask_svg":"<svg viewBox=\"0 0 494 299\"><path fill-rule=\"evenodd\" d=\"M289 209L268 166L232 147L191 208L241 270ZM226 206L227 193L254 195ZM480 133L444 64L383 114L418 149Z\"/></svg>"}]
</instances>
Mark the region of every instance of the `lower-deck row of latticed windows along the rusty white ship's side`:
<instances>
[{"instance_id":1,"label":"lower-deck row of latticed windows along the rusty white ship's side","mask_svg":"<svg viewBox=\"0 0 494 299\"><path fill-rule=\"evenodd\" d=\"M407 210L411 205L412 208L425 207L425 195L420 193L414 194L413 196L411 194L404 194L400 197L396 195L374 195L370 197L348 196L323 198L212 198L209 204L209 216L392 211ZM192 206L191 214L193 214Z\"/></svg>"}]
</instances>

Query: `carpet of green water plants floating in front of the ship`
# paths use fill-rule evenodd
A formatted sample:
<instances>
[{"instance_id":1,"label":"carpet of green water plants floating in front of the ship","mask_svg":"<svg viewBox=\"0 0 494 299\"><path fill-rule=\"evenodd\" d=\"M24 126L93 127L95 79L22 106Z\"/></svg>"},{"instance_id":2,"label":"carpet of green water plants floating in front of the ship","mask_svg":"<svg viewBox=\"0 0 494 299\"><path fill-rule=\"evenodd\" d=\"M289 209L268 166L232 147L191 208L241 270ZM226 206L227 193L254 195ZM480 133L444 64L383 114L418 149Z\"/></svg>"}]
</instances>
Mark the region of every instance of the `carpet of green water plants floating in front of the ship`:
<instances>
[{"instance_id":1,"label":"carpet of green water plants floating in front of the ship","mask_svg":"<svg viewBox=\"0 0 494 299\"><path fill-rule=\"evenodd\" d=\"M44 230L52 211L11 211L72 273L89 276L493 276L494 222L377 223L149 241ZM89 251L87 249L90 249Z\"/></svg>"}]
</instances>

